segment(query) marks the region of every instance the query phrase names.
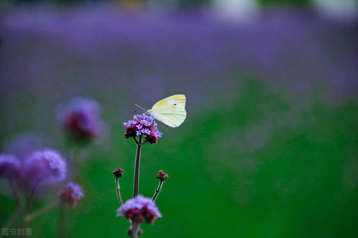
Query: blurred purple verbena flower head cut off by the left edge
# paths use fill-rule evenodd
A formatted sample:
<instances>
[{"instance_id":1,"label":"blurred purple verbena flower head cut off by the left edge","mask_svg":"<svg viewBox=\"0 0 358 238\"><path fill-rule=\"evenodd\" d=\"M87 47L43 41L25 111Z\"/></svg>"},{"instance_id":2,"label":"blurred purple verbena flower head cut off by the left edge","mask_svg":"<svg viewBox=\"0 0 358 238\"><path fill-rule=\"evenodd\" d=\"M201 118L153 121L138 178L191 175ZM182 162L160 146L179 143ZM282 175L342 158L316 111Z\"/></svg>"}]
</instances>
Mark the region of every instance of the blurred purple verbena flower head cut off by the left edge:
<instances>
[{"instance_id":1,"label":"blurred purple verbena flower head cut off by the left edge","mask_svg":"<svg viewBox=\"0 0 358 238\"><path fill-rule=\"evenodd\" d=\"M0 177L14 179L20 175L20 160L12 154L0 155Z\"/></svg>"}]
</instances>

